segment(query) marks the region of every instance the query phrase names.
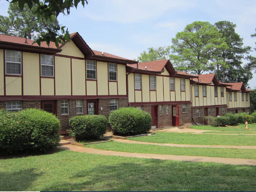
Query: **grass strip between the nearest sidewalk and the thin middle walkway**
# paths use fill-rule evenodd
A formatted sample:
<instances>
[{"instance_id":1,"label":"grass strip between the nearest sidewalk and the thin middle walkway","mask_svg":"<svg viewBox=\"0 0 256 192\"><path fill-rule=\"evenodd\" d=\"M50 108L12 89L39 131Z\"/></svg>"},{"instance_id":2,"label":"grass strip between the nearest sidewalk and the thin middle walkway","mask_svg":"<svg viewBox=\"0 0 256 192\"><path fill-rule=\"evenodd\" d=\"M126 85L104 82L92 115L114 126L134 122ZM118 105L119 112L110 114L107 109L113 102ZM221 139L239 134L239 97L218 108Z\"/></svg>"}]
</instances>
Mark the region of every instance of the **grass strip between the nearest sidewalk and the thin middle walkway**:
<instances>
[{"instance_id":1,"label":"grass strip between the nearest sidewalk and the thin middle walkway","mask_svg":"<svg viewBox=\"0 0 256 192\"><path fill-rule=\"evenodd\" d=\"M123 151L130 153L151 153L165 155L189 155L189 156L205 156L205 157L223 157L223 158L245 158L256 159L256 150L252 149L222 149L222 148L196 148L196 147L170 147L157 145L143 145L120 142L107 142L86 145L86 147Z\"/></svg>"}]
</instances>

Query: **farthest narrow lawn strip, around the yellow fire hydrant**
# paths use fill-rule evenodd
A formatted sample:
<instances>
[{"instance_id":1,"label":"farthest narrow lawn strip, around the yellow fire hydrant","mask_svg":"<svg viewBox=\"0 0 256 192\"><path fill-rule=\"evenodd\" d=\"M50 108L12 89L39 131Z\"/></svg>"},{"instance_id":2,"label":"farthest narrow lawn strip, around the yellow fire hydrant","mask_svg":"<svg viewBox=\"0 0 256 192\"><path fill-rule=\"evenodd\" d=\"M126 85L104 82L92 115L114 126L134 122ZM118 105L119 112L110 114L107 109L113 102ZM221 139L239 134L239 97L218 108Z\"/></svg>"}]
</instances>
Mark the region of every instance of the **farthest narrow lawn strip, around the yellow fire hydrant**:
<instances>
[{"instance_id":1,"label":"farthest narrow lawn strip, around the yellow fire hydrant","mask_svg":"<svg viewBox=\"0 0 256 192\"><path fill-rule=\"evenodd\" d=\"M245 125L240 124L238 127L212 127L209 125L203 125L203 126L190 126L191 129L200 129L200 130L214 130L214 131L256 131L256 123L250 124L248 126L248 130L245 130Z\"/></svg>"}]
</instances>

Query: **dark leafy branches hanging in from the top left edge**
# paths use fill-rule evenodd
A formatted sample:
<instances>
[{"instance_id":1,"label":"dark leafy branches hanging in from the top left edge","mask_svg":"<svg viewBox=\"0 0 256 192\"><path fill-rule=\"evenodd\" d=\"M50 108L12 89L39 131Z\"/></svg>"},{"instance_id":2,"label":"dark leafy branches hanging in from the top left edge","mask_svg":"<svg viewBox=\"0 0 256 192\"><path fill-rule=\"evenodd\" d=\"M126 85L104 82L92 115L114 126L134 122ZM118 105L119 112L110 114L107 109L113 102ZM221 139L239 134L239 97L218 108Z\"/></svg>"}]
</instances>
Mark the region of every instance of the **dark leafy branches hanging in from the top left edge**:
<instances>
[{"instance_id":1,"label":"dark leafy branches hanging in from the top left edge","mask_svg":"<svg viewBox=\"0 0 256 192\"><path fill-rule=\"evenodd\" d=\"M8 0L6 0L8 1ZM8 1L9 2L9 1ZM25 4L32 10L33 7L37 7L33 13L37 17L41 17L43 22L50 19L52 16L58 17L60 13L69 15L70 8L76 7L81 2L85 7L85 3L88 4L88 0L44 0L41 5L40 0L12 0L10 3L19 2L19 8L23 11ZM42 34L35 42L40 46L40 43L45 41L49 46L50 42L55 42L56 47L59 47L59 43L64 44L66 41L70 41L70 34L68 29L65 30L65 26L49 25L45 23L46 33Z\"/></svg>"}]
</instances>

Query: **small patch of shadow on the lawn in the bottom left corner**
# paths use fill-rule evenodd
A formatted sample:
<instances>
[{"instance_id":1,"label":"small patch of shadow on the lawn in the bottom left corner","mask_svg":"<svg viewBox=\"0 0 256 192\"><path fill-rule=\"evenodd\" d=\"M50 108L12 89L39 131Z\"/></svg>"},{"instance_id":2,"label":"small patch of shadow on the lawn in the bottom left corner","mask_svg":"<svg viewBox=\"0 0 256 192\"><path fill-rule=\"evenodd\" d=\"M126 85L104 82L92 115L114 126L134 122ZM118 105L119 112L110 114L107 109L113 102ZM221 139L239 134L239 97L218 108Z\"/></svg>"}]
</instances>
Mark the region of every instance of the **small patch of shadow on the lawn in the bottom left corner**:
<instances>
[{"instance_id":1,"label":"small patch of shadow on the lawn in the bottom left corner","mask_svg":"<svg viewBox=\"0 0 256 192\"><path fill-rule=\"evenodd\" d=\"M11 173L0 171L0 191L27 191L40 175L32 168Z\"/></svg>"}]
</instances>

